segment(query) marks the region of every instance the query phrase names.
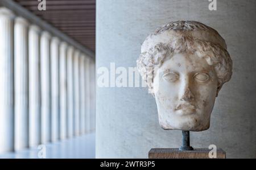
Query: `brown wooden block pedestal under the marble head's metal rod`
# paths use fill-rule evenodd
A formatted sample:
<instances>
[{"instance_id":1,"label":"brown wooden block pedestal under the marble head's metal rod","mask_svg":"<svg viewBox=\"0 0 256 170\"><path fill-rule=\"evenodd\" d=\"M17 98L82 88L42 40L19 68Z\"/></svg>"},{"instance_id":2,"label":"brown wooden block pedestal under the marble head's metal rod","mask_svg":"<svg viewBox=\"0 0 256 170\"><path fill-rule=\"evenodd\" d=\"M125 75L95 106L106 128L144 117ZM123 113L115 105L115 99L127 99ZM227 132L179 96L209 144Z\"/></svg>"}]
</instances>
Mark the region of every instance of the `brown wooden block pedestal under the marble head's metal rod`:
<instances>
[{"instance_id":1,"label":"brown wooden block pedestal under the marble head's metal rod","mask_svg":"<svg viewBox=\"0 0 256 170\"><path fill-rule=\"evenodd\" d=\"M152 148L148 152L149 159L180 159L180 158L191 158L191 159L209 159L209 152L207 148L195 148L193 151L180 151L178 148ZM225 159L226 152L222 149L217 149L218 159Z\"/></svg>"}]
</instances>

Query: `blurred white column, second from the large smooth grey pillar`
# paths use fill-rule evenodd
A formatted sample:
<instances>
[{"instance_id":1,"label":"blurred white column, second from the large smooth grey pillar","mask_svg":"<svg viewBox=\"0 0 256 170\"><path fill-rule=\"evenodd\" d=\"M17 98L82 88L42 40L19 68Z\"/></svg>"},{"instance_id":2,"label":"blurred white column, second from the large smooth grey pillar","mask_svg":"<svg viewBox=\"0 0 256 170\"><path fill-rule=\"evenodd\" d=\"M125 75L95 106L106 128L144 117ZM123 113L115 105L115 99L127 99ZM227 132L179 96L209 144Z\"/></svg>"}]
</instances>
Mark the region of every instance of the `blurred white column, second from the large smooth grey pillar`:
<instances>
[{"instance_id":1,"label":"blurred white column, second from the large smooth grey pillar","mask_svg":"<svg viewBox=\"0 0 256 170\"><path fill-rule=\"evenodd\" d=\"M85 59L85 90L86 90L86 115L85 126L86 132L90 132L90 59Z\"/></svg>"}]
</instances>

